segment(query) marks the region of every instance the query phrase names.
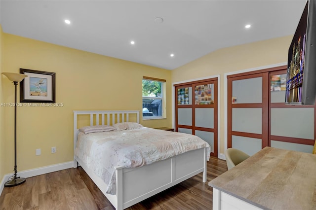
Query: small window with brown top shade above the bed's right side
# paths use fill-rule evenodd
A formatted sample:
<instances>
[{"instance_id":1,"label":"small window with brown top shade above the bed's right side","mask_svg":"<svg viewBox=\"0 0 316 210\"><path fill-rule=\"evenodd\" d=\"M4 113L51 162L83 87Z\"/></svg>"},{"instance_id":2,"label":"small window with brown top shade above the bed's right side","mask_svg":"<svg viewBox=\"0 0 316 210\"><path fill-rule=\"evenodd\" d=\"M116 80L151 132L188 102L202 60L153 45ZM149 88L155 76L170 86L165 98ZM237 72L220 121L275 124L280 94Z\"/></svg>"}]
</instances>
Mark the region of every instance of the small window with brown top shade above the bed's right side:
<instances>
[{"instance_id":1,"label":"small window with brown top shade above the bed's right side","mask_svg":"<svg viewBox=\"0 0 316 210\"><path fill-rule=\"evenodd\" d=\"M165 117L165 80L143 77L143 119Z\"/></svg>"}]
</instances>

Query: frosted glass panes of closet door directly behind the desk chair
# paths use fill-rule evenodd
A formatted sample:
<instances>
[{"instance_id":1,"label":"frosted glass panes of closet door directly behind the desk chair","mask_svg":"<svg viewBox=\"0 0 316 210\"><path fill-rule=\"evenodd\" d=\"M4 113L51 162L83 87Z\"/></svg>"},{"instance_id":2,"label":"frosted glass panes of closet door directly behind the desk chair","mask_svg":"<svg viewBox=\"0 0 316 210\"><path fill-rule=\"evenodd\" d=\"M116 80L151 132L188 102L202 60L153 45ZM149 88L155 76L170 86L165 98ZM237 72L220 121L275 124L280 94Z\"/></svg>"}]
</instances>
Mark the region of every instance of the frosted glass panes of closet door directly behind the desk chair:
<instances>
[{"instance_id":1,"label":"frosted glass panes of closet door directly behind the desk chair","mask_svg":"<svg viewBox=\"0 0 316 210\"><path fill-rule=\"evenodd\" d=\"M252 107L262 104L262 77L234 80L232 104L232 147L252 155L261 150L262 139L242 135L262 135L262 107ZM241 107L234 107L234 104L241 104ZM234 132L243 134L234 135Z\"/></svg>"}]
</instances>

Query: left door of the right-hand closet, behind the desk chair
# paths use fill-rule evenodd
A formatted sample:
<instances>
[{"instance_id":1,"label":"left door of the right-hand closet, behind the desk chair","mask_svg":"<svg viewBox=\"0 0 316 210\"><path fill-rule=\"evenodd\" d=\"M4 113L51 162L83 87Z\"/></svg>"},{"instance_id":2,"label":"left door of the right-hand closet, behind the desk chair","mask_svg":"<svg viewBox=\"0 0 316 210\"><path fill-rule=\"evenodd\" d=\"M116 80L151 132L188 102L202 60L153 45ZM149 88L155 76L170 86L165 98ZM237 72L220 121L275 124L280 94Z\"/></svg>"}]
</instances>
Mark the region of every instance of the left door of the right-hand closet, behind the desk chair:
<instances>
[{"instance_id":1,"label":"left door of the right-hand closet, behind the desk chair","mask_svg":"<svg viewBox=\"0 0 316 210\"><path fill-rule=\"evenodd\" d=\"M268 146L268 74L228 78L228 147L252 155Z\"/></svg>"}]
</instances>

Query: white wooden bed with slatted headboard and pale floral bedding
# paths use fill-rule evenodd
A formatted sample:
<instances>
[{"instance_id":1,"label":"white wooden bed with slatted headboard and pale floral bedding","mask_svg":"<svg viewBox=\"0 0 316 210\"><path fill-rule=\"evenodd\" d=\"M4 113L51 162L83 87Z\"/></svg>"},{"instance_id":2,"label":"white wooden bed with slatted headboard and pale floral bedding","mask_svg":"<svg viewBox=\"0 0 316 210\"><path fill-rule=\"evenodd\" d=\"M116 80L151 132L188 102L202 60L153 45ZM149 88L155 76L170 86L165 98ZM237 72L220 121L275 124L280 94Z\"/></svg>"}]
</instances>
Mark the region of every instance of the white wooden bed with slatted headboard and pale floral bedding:
<instances>
[{"instance_id":1,"label":"white wooden bed with slatted headboard and pale floral bedding","mask_svg":"<svg viewBox=\"0 0 316 210\"><path fill-rule=\"evenodd\" d=\"M107 129L114 126L116 127L113 131L111 130L109 132L83 134L82 125L84 125L84 121L89 121L87 123L88 125L84 126L89 129L91 128L90 126L95 128L97 125L100 125L98 127L103 126ZM120 127L118 127L118 125ZM130 129L118 129L125 127L125 125L129 125ZM136 127L134 127L135 125ZM183 151L171 152L173 155L171 155L171 153L163 153L163 157L161 157L158 156L158 154L160 154L159 152L151 151L150 153L155 153L158 159L156 159L156 156L155 158L151 156L146 159L141 155L143 162L137 162L133 159L133 161L131 161L133 163L132 165L126 165L125 163L128 161L124 160L112 163L111 166L113 167L102 168L104 163L101 164L99 160L112 161L112 159L114 159L114 161L118 161L122 159L122 156L124 156L124 158L126 156L124 154L116 159L115 154L118 152L110 154L112 150L117 151L121 147L121 145L114 146L113 138L117 138L117 136L120 139L115 141L119 141L121 144L126 144L127 139L133 139L138 143L140 136L146 137L148 142L145 146L142 146L142 148L149 148L152 144L151 141L153 141L156 146L158 144L160 145L160 143L155 140L155 136L156 139L158 139L158 136L161 137L160 139L174 138L168 140L169 145L176 142L178 138L176 135L182 136L179 138L183 138L184 135L187 135L142 126L137 127L137 125L140 125L138 110L74 111L74 168L81 166L117 210L126 209L199 173L203 173L202 181L206 181L206 161L209 159L210 146L207 143L203 144L199 140L197 140L198 143L193 140L195 142L194 145L190 145L186 142L185 146L179 146L181 148L180 150ZM125 139L123 140L121 140L122 135L125 135ZM132 135L136 136L132 137ZM91 143L88 141L88 136L89 138L93 137ZM187 135L185 138L191 138L192 136L193 135ZM193 136L192 138L196 137ZM129 147L127 151L132 151L135 147L133 146L133 140L132 143L129 143L131 147ZM112 145L113 147L105 152L101 150L101 148L106 147L101 145L101 143L107 146ZM89 147L89 149L86 147ZM91 152L91 148L100 150L102 153ZM135 150L138 151L138 149L138 147L135 147ZM96 155L94 155L94 157L87 157L84 155L87 153L95 153ZM105 154L108 153L110 156L104 158ZM135 154L133 153L132 156L134 157ZM113 176L107 177L107 174Z\"/></svg>"}]
</instances>

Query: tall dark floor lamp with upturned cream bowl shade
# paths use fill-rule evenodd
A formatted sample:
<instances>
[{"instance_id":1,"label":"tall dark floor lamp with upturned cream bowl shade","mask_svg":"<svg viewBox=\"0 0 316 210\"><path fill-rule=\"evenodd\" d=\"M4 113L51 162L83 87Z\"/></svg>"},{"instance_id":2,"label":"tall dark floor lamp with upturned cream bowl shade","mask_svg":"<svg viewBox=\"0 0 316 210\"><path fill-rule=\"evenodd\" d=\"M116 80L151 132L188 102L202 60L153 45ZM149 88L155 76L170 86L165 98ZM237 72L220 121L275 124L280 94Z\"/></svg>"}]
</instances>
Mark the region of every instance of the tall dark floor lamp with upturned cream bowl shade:
<instances>
[{"instance_id":1,"label":"tall dark floor lamp with upturned cream bowl shade","mask_svg":"<svg viewBox=\"0 0 316 210\"><path fill-rule=\"evenodd\" d=\"M11 80L14 84L14 176L12 176L11 180L4 183L5 187L13 187L19 184L22 184L26 181L25 178L17 177L17 166L16 166L16 86L18 82L22 81L27 75L22 73L10 73L10 72L3 72L9 80Z\"/></svg>"}]
</instances>

